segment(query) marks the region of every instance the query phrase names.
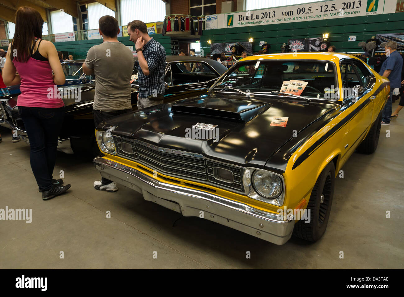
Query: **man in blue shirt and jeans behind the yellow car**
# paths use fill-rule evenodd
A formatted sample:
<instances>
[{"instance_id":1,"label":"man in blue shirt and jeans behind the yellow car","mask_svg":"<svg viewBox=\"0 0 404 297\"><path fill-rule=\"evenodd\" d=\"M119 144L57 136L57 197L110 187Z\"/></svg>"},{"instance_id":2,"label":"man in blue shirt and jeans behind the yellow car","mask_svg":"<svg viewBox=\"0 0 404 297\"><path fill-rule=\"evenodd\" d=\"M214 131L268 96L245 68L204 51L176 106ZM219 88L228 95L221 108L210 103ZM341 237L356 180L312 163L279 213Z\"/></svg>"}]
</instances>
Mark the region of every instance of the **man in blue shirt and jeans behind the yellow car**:
<instances>
[{"instance_id":1,"label":"man in blue shirt and jeans behind the yellow car","mask_svg":"<svg viewBox=\"0 0 404 297\"><path fill-rule=\"evenodd\" d=\"M385 46L386 61L381 65L380 75L389 78L390 80L390 95L382 112L382 125L390 125L391 116L391 97L395 88L401 88L401 70L403 66L403 58L397 52L397 42L387 42Z\"/></svg>"}]
</instances>

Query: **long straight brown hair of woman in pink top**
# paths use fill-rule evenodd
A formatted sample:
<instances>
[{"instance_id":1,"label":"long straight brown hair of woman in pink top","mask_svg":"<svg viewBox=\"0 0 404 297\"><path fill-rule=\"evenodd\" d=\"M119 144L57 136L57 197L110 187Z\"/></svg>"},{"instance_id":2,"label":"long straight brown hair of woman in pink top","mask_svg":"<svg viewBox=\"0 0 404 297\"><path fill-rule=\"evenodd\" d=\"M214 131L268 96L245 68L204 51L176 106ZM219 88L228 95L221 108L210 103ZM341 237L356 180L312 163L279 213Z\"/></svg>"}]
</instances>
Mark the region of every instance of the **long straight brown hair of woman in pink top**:
<instances>
[{"instance_id":1,"label":"long straight brown hair of woman in pink top","mask_svg":"<svg viewBox=\"0 0 404 297\"><path fill-rule=\"evenodd\" d=\"M43 24L44 20L40 13L34 8L27 6L18 8L15 13L14 38L11 42L11 59L16 57L17 60L22 63L28 61L35 37L42 38Z\"/></svg>"}]
</instances>

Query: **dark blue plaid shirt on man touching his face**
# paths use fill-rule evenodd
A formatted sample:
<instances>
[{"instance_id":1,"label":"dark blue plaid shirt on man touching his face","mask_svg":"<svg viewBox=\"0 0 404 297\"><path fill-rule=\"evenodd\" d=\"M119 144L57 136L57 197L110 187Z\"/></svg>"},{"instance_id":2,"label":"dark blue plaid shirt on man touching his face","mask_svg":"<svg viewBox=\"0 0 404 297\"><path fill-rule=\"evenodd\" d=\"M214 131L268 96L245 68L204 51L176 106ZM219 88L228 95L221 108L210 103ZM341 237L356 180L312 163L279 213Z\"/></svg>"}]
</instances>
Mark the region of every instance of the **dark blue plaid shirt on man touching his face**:
<instances>
[{"instance_id":1,"label":"dark blue plaid shirt on man touching his face","mask_svg":"<svg viewBox=\"0 0 404 297\"><path fill-rule=\"evenodd\" d=\"M164 70L166 67L166 50L154 38L151 38L143 47L143 56L149 67L149 75L143 74L138 63L139 75L139 98L146 98L153 95L154 90L158 94L164 95Z\"/></svg>"}]
</instances>

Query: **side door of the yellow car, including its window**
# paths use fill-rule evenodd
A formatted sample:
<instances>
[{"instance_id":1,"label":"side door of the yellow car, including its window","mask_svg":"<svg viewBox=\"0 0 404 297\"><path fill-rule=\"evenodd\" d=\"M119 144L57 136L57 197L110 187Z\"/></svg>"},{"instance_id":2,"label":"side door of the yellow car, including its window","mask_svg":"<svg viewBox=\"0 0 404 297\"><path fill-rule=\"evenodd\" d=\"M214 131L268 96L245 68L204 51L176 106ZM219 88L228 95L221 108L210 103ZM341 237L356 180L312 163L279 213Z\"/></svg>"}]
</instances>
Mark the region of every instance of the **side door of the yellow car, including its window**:
<instances>
[{"instance_id":1,"label":"side door of the yellow car, including its window","mask_svg":"<svg viewBox=\"0 0 404 297\"><path fill-rule=\"evenodd\" d=\"M348 150L352 153L366 136L373 117L372 81L374 76L362 62L346 59L341 63L341 78L344 107L349 110ZM355 86L362 86L364 92L356 94Z\"/></svg>"}]
</instances>

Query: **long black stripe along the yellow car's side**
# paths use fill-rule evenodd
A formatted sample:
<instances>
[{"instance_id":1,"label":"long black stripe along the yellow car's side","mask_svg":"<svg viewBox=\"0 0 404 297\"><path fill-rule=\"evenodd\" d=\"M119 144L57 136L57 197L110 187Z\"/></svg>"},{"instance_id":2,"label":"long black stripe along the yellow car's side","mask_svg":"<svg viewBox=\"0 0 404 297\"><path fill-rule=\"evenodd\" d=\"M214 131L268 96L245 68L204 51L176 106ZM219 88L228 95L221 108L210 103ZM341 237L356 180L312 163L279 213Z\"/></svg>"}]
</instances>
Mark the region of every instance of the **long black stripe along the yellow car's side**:
<instances>
[{"instance_id":1,"label":"long black stripe along the yellow car's side","mask_svg":"<svg viewBox=\"0 0 404 297\"><path fill-rule=\"evenodd\" d=\"M377 88L375 93L370 95L368 99L366 99L361 105L356 107L350 114L348 114L343 120L341 120L338 124L336 124L334 127L330 129L326 134L324 134L320 139L318 139L311 147L309 147L299 158L297 158L295 164L292 166L292 170L295 169L297 166L299 166L301 163L303 163L304 160L306 160L311 154L313 154L324 142L326 142L332 135L337 133L345 124L347 124L350 120L352 120L366 105L370 103L370 97L375 96L374 94L378 94L385 86L386 84L390 84L389 82L385 82Z\"/></svg>"}]
</instances>

